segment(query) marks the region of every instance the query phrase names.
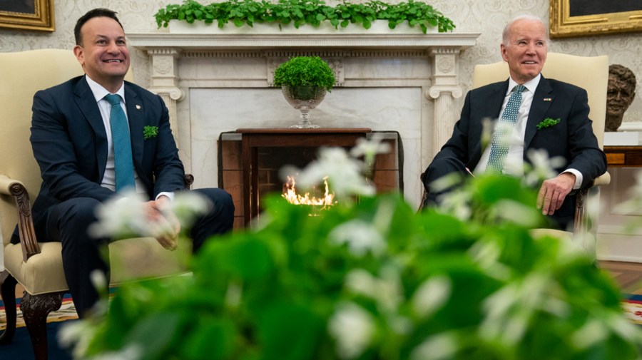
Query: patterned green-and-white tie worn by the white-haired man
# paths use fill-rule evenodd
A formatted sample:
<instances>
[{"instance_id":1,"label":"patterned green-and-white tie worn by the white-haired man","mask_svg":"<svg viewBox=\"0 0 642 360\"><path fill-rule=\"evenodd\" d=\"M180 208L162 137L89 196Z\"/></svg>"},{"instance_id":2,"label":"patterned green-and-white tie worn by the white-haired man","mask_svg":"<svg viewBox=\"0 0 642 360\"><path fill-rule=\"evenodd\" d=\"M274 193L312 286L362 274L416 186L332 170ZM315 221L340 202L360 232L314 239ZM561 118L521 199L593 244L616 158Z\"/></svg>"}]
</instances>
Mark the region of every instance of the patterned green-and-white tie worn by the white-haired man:
<instances>
[{"instance_id":1,"label":"patterned green-and-white tie worn by the white-haired man","mask_svg":"<svg viewBox=\"0 0 642 360\"><path fill-rule=\"evenodd\" d=\"M493 142L491 145L491 153L488 157L488 165L486 165L486 173L501 174L504 170L504 160L508 154L509 144L508 139L513 127L517 122L517 113L519 113L519 106L521 105L521 92L524 91L526 86L516 85L513 88L511 97L504 113L501 114L499 123L493 133Z\"/></svg>"}]
</instances>

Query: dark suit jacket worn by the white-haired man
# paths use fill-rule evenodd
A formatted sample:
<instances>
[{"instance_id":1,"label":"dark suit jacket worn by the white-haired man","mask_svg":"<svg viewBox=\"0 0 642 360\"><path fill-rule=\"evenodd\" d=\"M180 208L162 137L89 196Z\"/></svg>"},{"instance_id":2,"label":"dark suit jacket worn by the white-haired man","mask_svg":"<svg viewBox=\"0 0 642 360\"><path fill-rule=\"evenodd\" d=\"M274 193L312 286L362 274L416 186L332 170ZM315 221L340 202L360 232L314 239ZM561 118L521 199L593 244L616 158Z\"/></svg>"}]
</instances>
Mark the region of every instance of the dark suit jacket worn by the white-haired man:
<instances>
[{"instance_id":1,"label":"dark suit jacket worn by the white-haired man","mask_svg":"<svg viewBox=\"0 0 642 360\"><path fill-rule=\"evenodd\" d=\"M469 91L464 101L461 118L454 127L452 137L435 155L434 160L448 160L459 170L474 170L481 158L482 120L497 119L508 91L509 81L492 83ZM583 176L582 187L606 172L606 155L600 150L593 134L592 121L588 119L588 96L586 91L569 83L541 77L529 110L524 136L524 163L529 163L527 153L531 149L545 149L549 157L561 156L566 165L557 168L561 173L567 168L579 170ZM545 118L559 118L561 122L539 130ZM429 165L424 173L424 185L446 175L449 170ZM574 215L573 195L566 198L557 210L561 224L572 220Z\"/></svg>"}]
</instances>

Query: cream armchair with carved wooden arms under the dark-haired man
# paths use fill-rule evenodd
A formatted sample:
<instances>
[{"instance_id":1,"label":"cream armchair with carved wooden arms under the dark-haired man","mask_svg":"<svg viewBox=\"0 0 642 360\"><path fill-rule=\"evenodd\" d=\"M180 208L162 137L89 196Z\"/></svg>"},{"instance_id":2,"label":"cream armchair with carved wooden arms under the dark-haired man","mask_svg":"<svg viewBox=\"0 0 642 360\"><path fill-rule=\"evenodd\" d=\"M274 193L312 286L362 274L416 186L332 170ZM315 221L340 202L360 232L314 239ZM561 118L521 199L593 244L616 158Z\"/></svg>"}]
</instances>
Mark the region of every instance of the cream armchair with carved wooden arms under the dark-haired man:
<instances>
[{"instance_id":1,"label":"cream armchair with carved wooden arms under the dark-haired man","mask_svg":"<svg viewBox=\"0 0 642 360\"><path fill-rule=\"evenodd\" d=\"M47 358L46 317L61 307L68 287L63 276L61 243L41 242L34 235L30 200L38 194L41 177L29 143L31 102L36 91L82 73L71 50L0 53L0 235L4 250L0 281L7 319L0 344L10 342L16 329L17 282L25 289L21 310L35 359ZM185 178L186 185L190 185L191 176ZM21 242L13 245L9 240L16 223ZM155 239L146 237L112 242L109 252L111 264L120 265L111 270L111 284L117 285L186 272L180 259L185 259L189 250L169 252Z\"/></svg>"}]
</instances>

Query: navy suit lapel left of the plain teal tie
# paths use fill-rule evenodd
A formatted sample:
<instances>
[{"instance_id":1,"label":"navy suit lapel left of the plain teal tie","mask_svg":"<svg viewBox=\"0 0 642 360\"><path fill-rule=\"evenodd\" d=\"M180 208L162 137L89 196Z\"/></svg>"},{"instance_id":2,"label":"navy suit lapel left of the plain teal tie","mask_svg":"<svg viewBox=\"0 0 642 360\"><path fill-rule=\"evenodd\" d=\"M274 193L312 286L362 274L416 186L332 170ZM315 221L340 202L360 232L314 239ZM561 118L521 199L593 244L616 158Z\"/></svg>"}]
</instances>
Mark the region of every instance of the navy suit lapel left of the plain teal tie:
<instances>
[{"instance_id":1,"label":"navy suit lapel left of the plain teal tie","mask_svg":"<svg viewBox=\"0 0 642 360\"><path fill-rule=\"evenodd\" d=\"M84 76L76 84L73 93L78 109L81 110L85 120L91 125L93 132L96 134L96 163L98 164L98 178L102 179L107 166L108 143L101 110L98 109L96 98L93 97L93 93Z\"/></svg>"}]
</instances>

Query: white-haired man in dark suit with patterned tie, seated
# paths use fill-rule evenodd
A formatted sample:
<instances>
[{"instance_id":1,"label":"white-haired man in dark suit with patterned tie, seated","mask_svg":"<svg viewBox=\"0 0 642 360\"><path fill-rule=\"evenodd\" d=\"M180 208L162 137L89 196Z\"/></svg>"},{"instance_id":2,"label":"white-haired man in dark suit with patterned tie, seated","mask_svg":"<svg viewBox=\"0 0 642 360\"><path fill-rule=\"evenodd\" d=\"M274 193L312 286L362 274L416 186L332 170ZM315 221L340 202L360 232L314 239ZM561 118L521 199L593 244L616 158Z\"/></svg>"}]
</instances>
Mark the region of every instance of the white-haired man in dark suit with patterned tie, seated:
<instances>
[{"instance_id":1,"label":"white-haired man in dark suit with patterned tie, seated","mask_svg":"<svg viewBox=\"0 0 642 360\"><path fill-rule=\"evenodd\" d=\"M588 119L586 91L541 76L548 42L546 25L534 16L518 16L506 26L500 48L501 57L509 64L510 78L469 91L452 137L422 176L428 191L424 206L438 203L448 191L432 188L435 180L450 173L468 176L486 171L491 146L481 148L482 121L502 118L513 89L522 85L525 88L516 121L509 129L504 160L512 166L501 171L523 176L531 149L544 149L550 158L566 159L566 164L555 169L559 175L541 184L536 206L544 215L550 215L555 227L565 229L571 225L575 197L569 194L606 172L606 156L598 147ZM551 126L538 128L545 119L553 120Z\"/></svg>"}]
</instances>

